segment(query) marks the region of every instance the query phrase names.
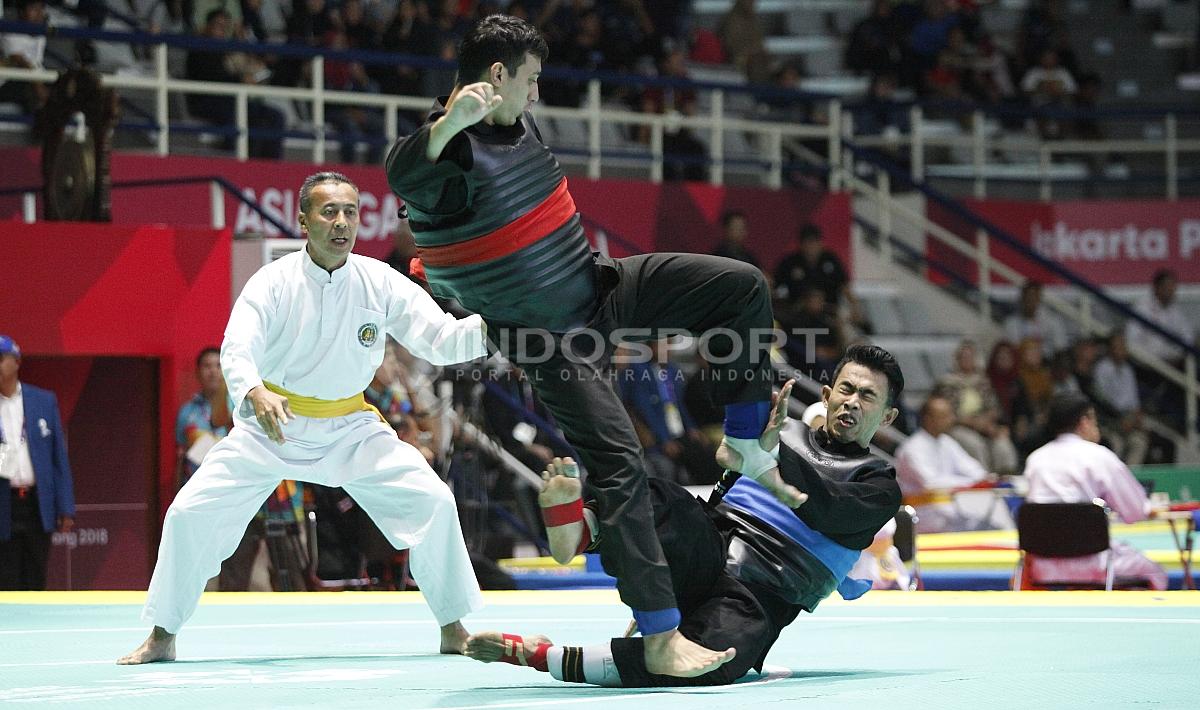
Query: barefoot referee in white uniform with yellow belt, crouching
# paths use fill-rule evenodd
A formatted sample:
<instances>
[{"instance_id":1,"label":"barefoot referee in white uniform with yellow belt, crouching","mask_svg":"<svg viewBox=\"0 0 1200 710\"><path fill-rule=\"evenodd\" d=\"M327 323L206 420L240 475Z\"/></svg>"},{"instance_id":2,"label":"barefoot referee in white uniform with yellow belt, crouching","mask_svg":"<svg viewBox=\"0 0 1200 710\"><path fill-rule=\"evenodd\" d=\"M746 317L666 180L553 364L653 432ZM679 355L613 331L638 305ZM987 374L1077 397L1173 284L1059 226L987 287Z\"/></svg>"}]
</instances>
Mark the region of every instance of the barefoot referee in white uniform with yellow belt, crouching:
<instances>
[{"instance_id":1,"label":"barefoot referee in white uniform with yellow belt, crouching","mask_svg":"<svg viewBox=\"0 0 1200 710\"><path fill-rule=\"evenodd\" d=\"M362 391L386 336L452 365L487 354L484 321L455 319L386 264L350 253L359 191L344 175L305 180L299 221L306 248L260 269L234 303L221 368L235 426L167 511L142 612L155 627L118 663L174 660L205 580L283 479L344 488L395 547L412 550L442 652L461 652L460 619L482 604L450 489Z\"/></svg>"}]
</instances>

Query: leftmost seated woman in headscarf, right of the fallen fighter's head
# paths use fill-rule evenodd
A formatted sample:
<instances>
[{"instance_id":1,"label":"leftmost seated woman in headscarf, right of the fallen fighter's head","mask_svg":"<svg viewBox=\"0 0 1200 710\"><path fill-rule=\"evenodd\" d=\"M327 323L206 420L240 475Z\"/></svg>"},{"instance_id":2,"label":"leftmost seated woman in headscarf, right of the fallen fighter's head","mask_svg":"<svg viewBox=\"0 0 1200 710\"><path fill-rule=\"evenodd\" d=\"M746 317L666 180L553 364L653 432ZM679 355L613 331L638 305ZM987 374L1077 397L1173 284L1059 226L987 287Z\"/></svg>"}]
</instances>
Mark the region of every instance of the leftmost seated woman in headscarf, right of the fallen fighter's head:
<instances>
[{"instance_id":1,"label":"leftmost seated woman in headscarf, right of the fallen fighter's head","mask_svg":"<svg viewBox=\"0 0 1200 710\"><path fill-rule=\"evenodd\" d=\"M950 437L989 471L1016 471L1016 447L988 375L980 372L972 341L962 341L954 351L955 369L937 380L935 390L954 407L956 423Z\"/></svg>"}]
</instances>

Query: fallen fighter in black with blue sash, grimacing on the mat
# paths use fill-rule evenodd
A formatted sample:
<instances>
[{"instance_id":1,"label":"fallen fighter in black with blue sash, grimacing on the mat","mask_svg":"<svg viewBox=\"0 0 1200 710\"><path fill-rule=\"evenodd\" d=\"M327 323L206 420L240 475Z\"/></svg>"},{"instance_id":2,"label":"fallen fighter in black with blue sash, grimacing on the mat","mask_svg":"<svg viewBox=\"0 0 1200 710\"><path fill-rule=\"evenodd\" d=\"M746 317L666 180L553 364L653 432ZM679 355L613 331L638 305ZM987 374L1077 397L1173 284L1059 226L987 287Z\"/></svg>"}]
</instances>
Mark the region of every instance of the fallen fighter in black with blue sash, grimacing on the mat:
<instances>
[{"instance_id":1,"label":"fallen fighter in black with blue sash, grimacing on the mat","mask_svg":"<svg viewBox=\"0 0 1200 710\"><path fill-rule=\"evenodd\" d=\"M749 479L722 480L709 504L652 481L656 532L683 610L680 630L706 646L734 648L733 661L698 678L670 678L646 669L638 638L559 646L544 636L493 631L468 638L467 655L530 666L558 680L623 687L725 685L751 668L762 670L767 651L802 610L812 612L835 589L847 600L870 589L869 580L847 574L859 550L895 516L900 487L895 470L866 446L895 420L902 389L895 359L874 345L846 351L833 387L822 389L829 416L818 428L787 421L791 383L784 386L760 444L779 446L784 479L804 492L806 500L794 510ZM593 534L605 534L594 525L594 504L580 506L569 463L552 463L539 495L560 562L594 544ZM572 504L577 516L563 515Z\"/></svg>"}]
</instances>

